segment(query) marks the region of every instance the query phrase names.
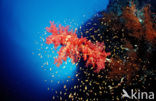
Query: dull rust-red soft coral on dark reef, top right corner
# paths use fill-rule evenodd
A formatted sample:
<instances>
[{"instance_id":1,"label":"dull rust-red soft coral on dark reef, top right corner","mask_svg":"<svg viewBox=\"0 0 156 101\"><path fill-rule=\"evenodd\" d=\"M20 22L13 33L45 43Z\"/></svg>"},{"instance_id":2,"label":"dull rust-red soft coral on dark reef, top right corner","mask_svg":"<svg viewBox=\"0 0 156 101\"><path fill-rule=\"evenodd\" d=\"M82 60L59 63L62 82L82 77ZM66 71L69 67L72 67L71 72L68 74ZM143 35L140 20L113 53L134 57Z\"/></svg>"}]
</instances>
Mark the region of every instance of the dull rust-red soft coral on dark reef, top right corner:
<instances>
[{"instance_id":1,"label":"dull rust-red soft coral on dark reef, top right corner","mask_svg":"<svg viewBox=\"0 0 156 101\"><path fill-rule=\"evenodd\" d=\"M136 11L135 4L131 2L131 6L127 6L122 13L122 17L125 19L125 26L131 32L130 35L138 39L144 38L147 41L155 41L156 29L151 19L149 6L143 8L143 23L139 21Z\"/></svg>"}]
</instances>

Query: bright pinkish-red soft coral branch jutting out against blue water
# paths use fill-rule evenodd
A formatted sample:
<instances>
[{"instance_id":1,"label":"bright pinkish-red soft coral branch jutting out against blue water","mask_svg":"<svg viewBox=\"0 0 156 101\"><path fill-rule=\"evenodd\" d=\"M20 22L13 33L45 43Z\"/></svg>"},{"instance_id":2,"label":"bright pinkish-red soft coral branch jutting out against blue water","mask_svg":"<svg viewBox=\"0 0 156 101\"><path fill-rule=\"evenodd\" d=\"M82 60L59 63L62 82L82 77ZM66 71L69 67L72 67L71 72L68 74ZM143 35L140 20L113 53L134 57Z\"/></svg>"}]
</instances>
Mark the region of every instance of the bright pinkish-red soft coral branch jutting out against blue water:
<instances>
[{"instance_id":1,"label":"bright pinkish-red soft coral branch jutting out against blue water","mask_svg":"<svg viewBox=\"0 0 156 101\"><path fill-rule=\"evenodd\" d=\"M47 37L46 43L54 44L55 48L62 45L58 52L58 58L55 59L55 63L58 63L58 66L62 64L63 60L66 61L67 57L71 58L72 62L78 62L83 57L84 61L86 61L86 66L97 67L96 72L105 68L106 58L110 53L105 52L104 43L96 42L94 44L84 37L78 38L76 30L74 32L69 31L68 26L63 27L61 25L57 28L52 22L51 26L46 29L52 33L52 35Z\"/></svg>"}]
</instances>

